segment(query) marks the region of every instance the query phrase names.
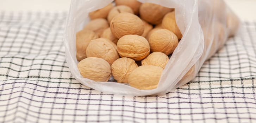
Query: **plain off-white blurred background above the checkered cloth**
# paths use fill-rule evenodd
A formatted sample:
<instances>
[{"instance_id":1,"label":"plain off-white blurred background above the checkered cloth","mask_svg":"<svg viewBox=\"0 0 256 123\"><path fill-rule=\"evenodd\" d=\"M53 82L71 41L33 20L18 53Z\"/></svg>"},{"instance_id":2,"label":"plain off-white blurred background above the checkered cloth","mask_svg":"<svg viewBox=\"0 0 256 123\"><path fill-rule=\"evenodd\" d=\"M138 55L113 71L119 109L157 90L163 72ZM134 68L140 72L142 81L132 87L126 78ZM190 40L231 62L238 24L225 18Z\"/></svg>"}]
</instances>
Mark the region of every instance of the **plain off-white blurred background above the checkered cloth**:
<instances>
[{"instance_id":1,"label":"plain off-white blurred background above the checkered cloth","mask_svg":"<svg viewBox=\"0 0 256 123\"><path fill-rule=\"evenodd\" d=\"M224 0L243 21L255 21L256 0ZM63 12L71 0L0 0L0 11Z\"/></svg>"}]
</instances>

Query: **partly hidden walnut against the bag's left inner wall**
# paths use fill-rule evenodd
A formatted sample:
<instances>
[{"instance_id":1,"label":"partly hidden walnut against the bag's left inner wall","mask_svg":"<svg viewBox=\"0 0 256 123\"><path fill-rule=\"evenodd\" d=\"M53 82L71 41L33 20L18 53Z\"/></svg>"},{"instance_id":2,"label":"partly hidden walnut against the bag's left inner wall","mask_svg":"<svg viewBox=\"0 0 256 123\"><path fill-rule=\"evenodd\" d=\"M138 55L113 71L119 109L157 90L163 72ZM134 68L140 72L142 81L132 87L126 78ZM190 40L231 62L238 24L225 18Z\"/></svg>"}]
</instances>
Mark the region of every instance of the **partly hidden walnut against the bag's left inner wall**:
<instances>
[{"instance_id":1,"label":"partly hidden walnut against the bag's left inner wall","mask_svg":"<svg viewBox=\"0 0 256 123\"><path fill-rule=\"evenodd\" d=\"M76 59L81 61L86 58L86 48L91 40L98 38L98 35L90 30L81 30L76 33Z\"/></svg>"}]
</instances>

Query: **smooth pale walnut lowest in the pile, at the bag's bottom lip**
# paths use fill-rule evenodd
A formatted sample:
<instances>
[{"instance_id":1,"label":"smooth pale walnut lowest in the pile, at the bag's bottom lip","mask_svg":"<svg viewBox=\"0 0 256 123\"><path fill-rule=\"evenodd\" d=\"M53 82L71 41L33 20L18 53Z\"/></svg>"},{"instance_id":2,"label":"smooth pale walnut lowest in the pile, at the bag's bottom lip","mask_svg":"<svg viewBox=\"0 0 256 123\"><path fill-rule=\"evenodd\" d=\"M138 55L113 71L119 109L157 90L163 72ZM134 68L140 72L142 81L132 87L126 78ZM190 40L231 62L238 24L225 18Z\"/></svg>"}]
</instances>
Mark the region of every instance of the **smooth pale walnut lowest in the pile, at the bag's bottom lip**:
<instances>
[{"instance_id":1,"label":"smooth pale walnut lowest in the pile, at the bag's bottom lip","mask_svg":"<svg viewBox=\"0 0 256 123\"><path fill-rule=\"evenodd\" d=\"M142 65L131 72L128 83L130 86L139 90L155 89L157 88L162 72L162 67Z\"/></svg>"}]
</instances>

